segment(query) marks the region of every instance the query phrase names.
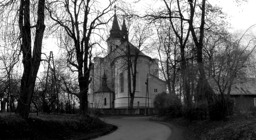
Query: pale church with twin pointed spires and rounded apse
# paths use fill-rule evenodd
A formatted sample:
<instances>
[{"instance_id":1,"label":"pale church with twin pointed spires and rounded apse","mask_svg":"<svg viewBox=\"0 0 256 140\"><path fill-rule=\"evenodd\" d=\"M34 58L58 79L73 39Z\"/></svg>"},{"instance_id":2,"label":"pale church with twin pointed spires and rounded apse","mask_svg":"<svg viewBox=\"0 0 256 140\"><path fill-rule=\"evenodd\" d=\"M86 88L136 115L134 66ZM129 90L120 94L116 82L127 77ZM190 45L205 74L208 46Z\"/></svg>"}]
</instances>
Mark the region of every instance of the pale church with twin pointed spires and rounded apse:
<instances>
[{"instance_id":1,"label":"pale church with twin pointed spires and rounded apse","mask_svg":"<svg viewBox=\"0 0 256 140\"><path fill-rule=\"evenodd\" d=\"M153 103L157 94L166 92L166 82L159 79L159 60L142 53L127 41L125 34L127 34L125 20L120 30L115 14L107 39L108 54L103 58L93 58L92 81L88 94L89 107L118 108L120 104L129 106L131 97L128 92L127 43L130 46L131 60L134 60L135 54L138 54L133 106L137 106L138 102L144 103L145 106L146 98L147 102ZM131 68L132 72L134 68ZM147 81L148 95L146 96ZM131 80L131 90L132 88Z\"/></svg>"}]
</instances>

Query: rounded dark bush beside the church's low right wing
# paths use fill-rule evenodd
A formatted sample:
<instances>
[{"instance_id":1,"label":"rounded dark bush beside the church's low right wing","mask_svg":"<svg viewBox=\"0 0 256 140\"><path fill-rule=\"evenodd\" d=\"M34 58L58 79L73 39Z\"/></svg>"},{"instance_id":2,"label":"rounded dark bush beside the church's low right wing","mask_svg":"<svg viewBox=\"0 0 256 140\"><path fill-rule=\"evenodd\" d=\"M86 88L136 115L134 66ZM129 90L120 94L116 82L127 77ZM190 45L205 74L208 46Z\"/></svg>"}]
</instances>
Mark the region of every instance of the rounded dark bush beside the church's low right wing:
<instances>
[{"instance_id":1,"label":"rounded dark bush beside the church's low right wing","mask_svg":"<svg viewBox=\"0 0 256 140\"><path fill-rule=\"evenodd\" d=\"M170 115L170 117L178 118L182 116L182 104L175 94L167 94L165 92L156 95L155 108L160 115Z\"/></svg>"}]
</instances>

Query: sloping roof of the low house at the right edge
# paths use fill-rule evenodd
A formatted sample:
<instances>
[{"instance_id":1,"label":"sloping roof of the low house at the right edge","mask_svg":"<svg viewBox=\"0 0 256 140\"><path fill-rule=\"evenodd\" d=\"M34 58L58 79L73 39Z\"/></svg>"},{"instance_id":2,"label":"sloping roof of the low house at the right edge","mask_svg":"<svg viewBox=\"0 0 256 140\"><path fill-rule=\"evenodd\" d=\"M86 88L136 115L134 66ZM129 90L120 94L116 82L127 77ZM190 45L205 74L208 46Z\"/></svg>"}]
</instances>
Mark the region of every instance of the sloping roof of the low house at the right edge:
<instances>
[{"instance_id":1,"label":"sloping roof of the low house at the right edge","mask_svg":"<svg viewBox=\"0 0 256 140\"><path fill-rule=\"evenodd\" d=\"M223 80L222 80L223 81ZM225 81L225 80L224 80ZM208 79L209 84L215 93L220 93L219 88L213 79ZM225 84L226 82L224 82ZM220 83L221 85L221 83ZM255 78L235 78L231 86L230 95L256 95Z\"/></svg>"}]
</instances>

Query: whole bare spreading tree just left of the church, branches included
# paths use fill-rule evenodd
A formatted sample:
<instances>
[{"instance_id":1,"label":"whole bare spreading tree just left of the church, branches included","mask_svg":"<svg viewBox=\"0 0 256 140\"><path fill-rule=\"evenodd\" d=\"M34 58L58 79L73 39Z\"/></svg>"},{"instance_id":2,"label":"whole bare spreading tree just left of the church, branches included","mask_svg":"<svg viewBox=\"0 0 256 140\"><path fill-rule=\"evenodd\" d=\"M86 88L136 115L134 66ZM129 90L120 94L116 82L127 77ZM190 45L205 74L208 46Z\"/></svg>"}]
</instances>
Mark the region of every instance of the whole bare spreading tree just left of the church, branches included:
<instances>
[{"instance_id":1,"label":"whole bare spreading tree just left of the church, branches included","mask_svg":"<svg viewBox=\"0 0 256 140\"><path fill-rule=\"evenodd\" d=\"M102 25L110 19L105 19L108 12L114 9L116 0L102 5L95 0L52 1L47 10L55 22L55 28L64 30L60 38L70 38L72 46L65 46L70 69L77 73L79 93L73 93L79 98L80 113L87 115L87 94L90 84L92 66L92 47L98 44L94 37L100 37ZM60 29L60 30L61 30ZM64 38L62 38L65 40ZM76 70L73 70L76 69Z\"/></svg>"}]
</instances>

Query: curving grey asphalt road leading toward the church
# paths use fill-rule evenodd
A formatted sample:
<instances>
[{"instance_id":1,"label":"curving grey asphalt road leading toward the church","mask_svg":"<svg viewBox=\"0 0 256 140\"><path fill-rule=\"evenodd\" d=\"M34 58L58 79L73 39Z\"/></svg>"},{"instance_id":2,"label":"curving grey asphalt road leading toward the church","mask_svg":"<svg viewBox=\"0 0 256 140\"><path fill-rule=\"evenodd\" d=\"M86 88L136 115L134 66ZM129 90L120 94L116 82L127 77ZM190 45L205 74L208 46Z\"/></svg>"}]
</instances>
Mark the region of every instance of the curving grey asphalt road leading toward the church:
<instances>
[{"instance_id":1,"label":"curving grey asphalt road leading toward the church","mask_svg":"<svg viewBox=\"0 0 256 140\"><path fill-rule=\"evenodd\" d=\"M93 140L170 140L183 139L171 124L147 121L147 117L107 117L101 118L107 123L118 126L118 129L108 135ZM172 136L172 130L177 136Z\"/></svg>"}]
</instances>

